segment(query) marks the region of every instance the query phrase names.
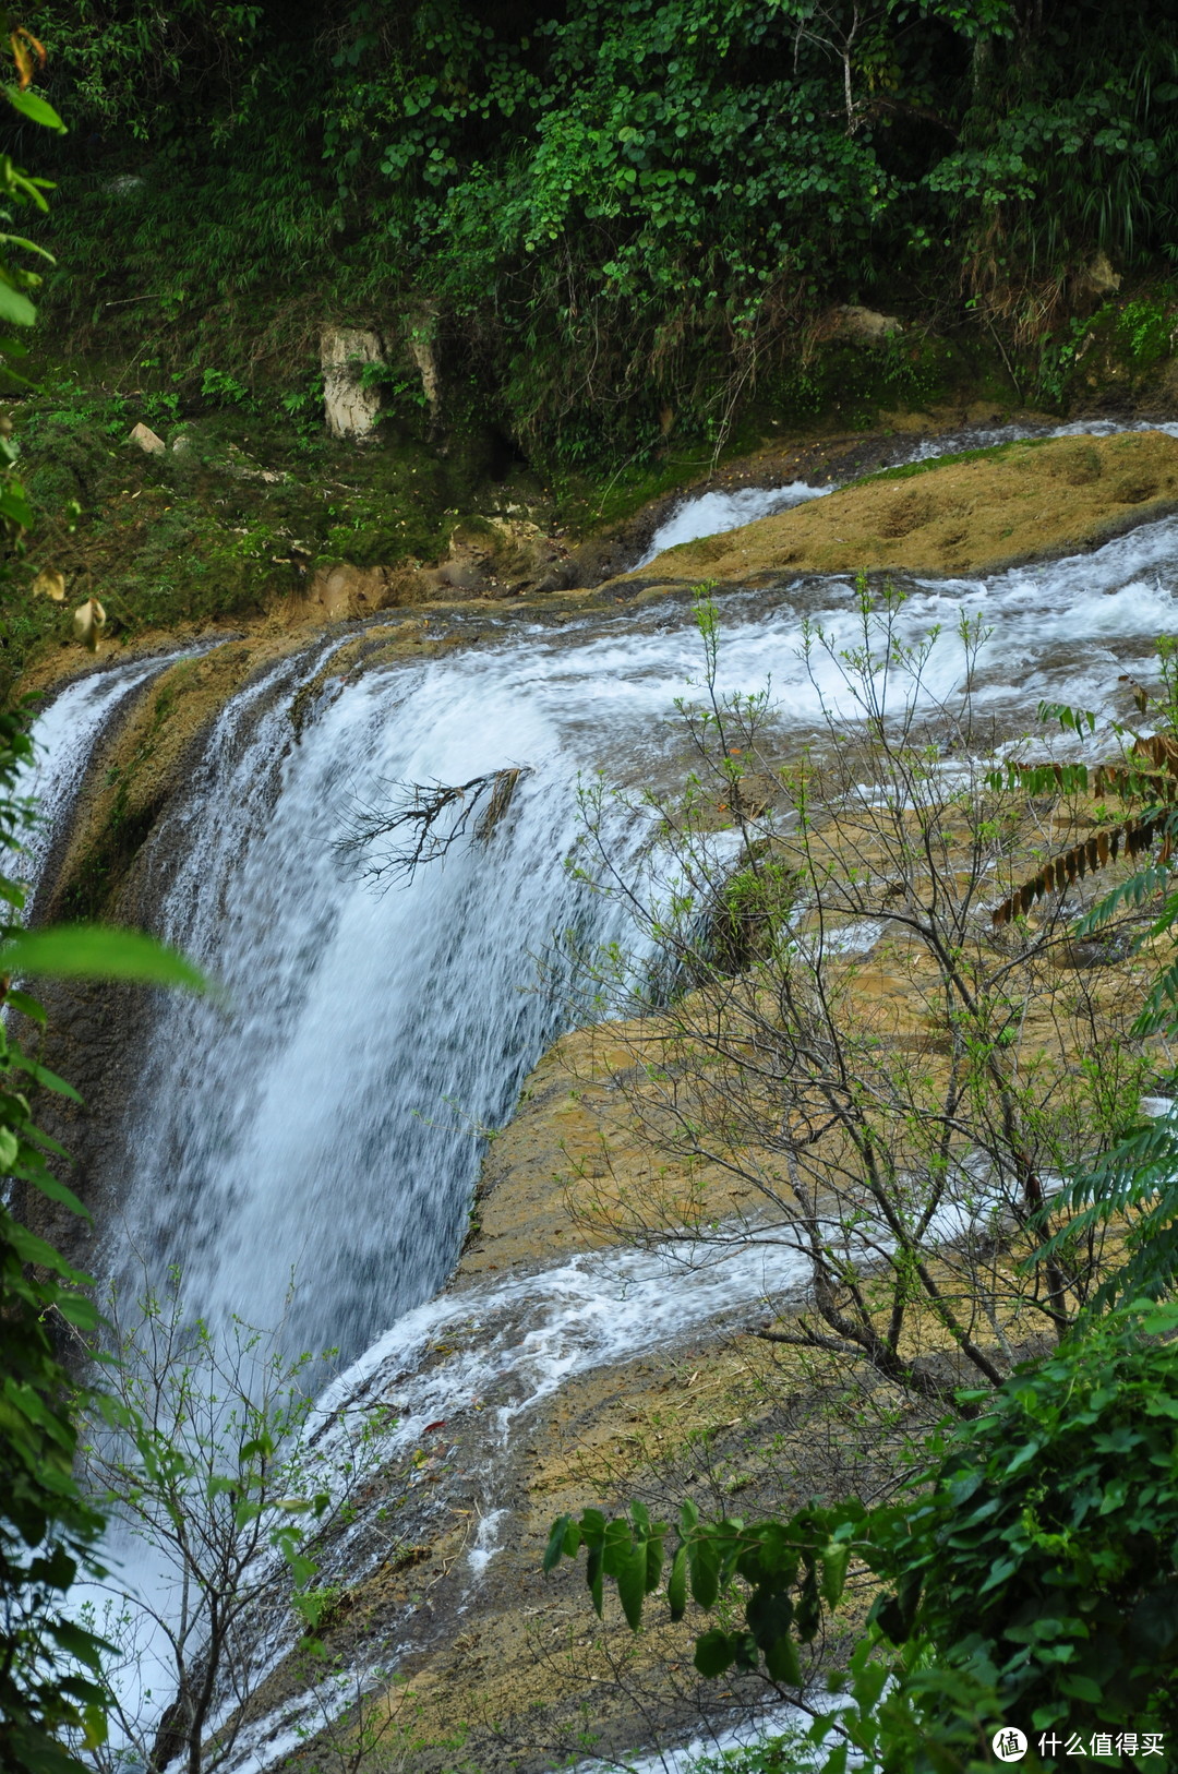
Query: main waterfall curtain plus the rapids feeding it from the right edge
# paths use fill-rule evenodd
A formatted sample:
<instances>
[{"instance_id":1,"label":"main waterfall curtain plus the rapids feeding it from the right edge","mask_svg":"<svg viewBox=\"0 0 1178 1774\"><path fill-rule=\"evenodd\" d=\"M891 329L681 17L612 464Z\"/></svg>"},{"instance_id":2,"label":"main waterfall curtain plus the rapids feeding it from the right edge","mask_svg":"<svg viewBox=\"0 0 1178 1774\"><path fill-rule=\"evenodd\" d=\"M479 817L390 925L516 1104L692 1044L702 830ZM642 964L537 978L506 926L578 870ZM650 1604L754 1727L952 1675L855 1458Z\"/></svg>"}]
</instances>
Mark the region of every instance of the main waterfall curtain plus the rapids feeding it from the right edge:
<instances>
[{"instance_id":1,"label":"main waterfall curtain plus the rapids feeding it from the right edge","mask_svg":"<svg viewBox=\"0 0 1178 1774\"><path fill-rule=\"evenodd\" d=\"M1176 585L1166 520L988 582L910 582L901 624L914 639L962 612L992 624L974 678L997 711L1029 715L1043 695L1095 706L1121 671L1148 669ZM798 656L804 616L850 644L853 587L805 580L722 607L722 687L772 676L798 729L839 694L834 662L818 660L816 688ZM213 1316L277 1323L294 1274L289 1336L355 1355L445 1279L474 1130L502 1121L559 1027L527 992L532 956L569 924L591 940L621 933L616 908L566 869L577 773L642 781L664 766L699 644L681 605L516 632L328 679L296 738L293 695L325 656L277 667L229 704L176 816L161 935L232 1004L161 1009L133 1105L126 1229L112 1236L179 1261L186 1297ZM960 672L947 635L928 692L949 694ZM341 873L332 844L353 798L511 765L530 773L486 844L389 892Z\"/></svg>"}]
</instances>

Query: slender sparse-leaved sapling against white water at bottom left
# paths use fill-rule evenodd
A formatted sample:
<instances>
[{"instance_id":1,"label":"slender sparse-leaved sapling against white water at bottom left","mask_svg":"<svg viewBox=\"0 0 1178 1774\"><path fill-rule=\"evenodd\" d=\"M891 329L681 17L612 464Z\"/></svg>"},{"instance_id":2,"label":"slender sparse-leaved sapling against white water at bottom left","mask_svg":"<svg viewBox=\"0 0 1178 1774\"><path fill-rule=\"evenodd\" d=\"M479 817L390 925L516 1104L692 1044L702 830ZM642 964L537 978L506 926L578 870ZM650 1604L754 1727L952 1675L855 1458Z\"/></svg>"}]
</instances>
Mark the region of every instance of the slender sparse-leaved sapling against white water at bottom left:
<instances>
[{"instance_id":1,"label":"slender sparse-leaved sapling against white water at bottom left","mask_svg":"<svg viewBox=\"0 0 1178 1774\"><path fill-rule=\"evenodd\" d=\"M211 1327L185 1307L181 1274L122 1300L112 1290L98 1348L108 1396L87 1423L85 1478L103 1510L147 1547L149 1593L108 1577L108 1604L90 1620L114 1641L112 1664L138 1662L144 1616L167 1669L165 1735L142 1682L115 1682L114 1715L137 1765L220 1767L243 1717L232 1696L261 1682L270 1648L257 1616L273 1595L275 1552L291 1579L302 1650L323 1655L339 1591L319 1579L319 1547L346 1522L358 1485L378 1464L381 1410L357 1414L332 1437L307 1437L316 1357L287 1357L279 1330L240 1318ZM167 1740L169 1747L163 1749Z\"/></svg>"}]
</instances>

